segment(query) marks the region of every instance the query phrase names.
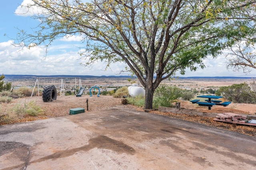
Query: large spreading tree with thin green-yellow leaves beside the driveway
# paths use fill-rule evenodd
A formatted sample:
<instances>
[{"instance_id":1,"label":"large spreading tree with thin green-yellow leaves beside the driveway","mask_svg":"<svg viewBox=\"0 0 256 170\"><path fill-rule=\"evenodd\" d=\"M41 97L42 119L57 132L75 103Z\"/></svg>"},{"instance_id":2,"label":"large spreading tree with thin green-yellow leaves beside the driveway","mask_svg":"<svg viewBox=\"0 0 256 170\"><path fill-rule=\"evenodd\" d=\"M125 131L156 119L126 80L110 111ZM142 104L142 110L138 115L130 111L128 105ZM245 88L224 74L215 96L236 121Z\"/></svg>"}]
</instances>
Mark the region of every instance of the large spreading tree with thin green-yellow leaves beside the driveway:
<instances>
[{"instance_id":1,"label":"large spreading tree with thin green-yellow leaves beside the driveway","mask_svg":"<svg viewBox=\"0 0 256 170\"><path fill-rule=\"evenodd\" d=\"M203 59L256 35L256 0L32 0L40 21L32 34L21 30L21 45L44 44L80 35L86 65L125 61L146 91L152 108L162 80L186 68L204 68ZM212 70L218 71L218 70Z\"/></svg>"}]
</instances>

